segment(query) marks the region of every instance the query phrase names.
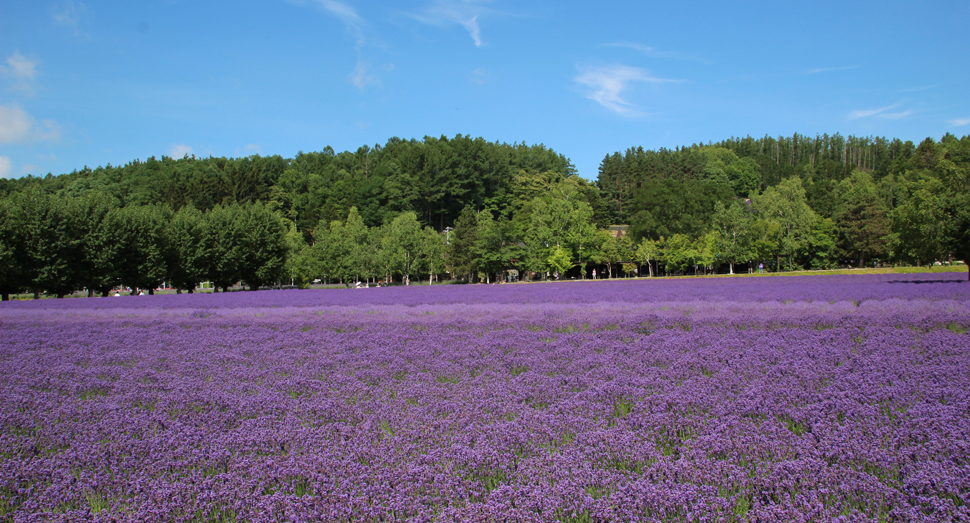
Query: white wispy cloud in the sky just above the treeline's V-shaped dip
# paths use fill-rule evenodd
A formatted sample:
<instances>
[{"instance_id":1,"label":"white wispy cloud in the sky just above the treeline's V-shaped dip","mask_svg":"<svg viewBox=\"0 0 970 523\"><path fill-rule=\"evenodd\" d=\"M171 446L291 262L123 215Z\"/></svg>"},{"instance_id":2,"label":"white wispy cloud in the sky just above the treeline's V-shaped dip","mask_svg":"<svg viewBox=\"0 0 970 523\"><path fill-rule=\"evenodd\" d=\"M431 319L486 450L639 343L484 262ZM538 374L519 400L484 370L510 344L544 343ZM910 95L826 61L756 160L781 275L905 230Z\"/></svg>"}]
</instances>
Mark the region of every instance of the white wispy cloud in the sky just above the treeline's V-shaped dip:
<instances>
[{"instance_id":1,"label":"white wispy cloud in the sky just above the treeline's V-shaped dip","mask_svg":"<svg viewBox=\"0 0 970 523\"><path fill-rule=\"evenodd\" d=\"M600 67L578 66L579 75L573 80L584 86L584 96L621 116L639 116L640 107L624 98L623 93L637 82L660 84L676 82L658 78L646 69L629 65L609 65Z\"/></svg>"}]
</instances>

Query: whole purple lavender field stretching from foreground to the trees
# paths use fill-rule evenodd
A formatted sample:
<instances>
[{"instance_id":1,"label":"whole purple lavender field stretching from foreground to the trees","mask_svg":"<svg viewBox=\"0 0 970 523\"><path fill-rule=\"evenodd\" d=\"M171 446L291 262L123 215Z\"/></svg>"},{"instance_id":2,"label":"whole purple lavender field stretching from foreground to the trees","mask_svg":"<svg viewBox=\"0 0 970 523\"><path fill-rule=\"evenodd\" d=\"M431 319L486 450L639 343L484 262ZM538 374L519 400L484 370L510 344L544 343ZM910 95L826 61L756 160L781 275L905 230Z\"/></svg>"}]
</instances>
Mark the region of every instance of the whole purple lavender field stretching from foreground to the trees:
<instances>
[{"instance_id":1,"label":"whole purple lavender field stretching from foreground to the trees","mask_svg":"<svg viewBox=\"0 0 970 523\"><path fill-rule=\"evenodd\" d=\"M970 520L965 274L0 306L0 521Z\"/></svg>"}]
</instances>

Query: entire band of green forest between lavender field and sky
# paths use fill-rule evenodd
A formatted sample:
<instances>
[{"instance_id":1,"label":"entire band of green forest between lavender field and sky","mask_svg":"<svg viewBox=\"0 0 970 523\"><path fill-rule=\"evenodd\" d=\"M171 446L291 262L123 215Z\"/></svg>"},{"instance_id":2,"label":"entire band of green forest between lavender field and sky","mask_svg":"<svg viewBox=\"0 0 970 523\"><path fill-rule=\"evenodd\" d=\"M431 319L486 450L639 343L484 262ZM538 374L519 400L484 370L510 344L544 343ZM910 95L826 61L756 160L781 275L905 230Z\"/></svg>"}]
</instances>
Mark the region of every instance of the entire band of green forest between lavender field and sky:
<instances>
[{"instance_id":1,"label":"entire band of green forest between lavender field and sky","mask_svg":"<svg viewBox=\"0 0 970 523\"><path fill-rule=\"evenodd\" d=\"M0 180L0 293L924 265L970 254L970 136L607 154L457 135Z\"/></svg>"}]
</instances>

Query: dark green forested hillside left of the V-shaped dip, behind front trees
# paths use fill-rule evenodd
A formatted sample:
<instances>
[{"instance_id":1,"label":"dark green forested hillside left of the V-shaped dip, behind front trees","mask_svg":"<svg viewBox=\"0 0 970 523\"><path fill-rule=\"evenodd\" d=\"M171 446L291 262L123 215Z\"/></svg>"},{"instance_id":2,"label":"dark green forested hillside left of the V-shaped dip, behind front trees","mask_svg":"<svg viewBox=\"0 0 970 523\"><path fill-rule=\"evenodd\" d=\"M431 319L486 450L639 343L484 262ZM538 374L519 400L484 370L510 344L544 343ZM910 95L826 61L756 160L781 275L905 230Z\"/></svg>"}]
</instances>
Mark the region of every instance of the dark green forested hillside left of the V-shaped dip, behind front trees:
<instances>
[{"instance_id":1,"label":"dark green forested hillside left of the V-shaped dip, behind front trees","mask_svg":"<svg viewBox=\"0 0 970 523\"><path fill-rule=\"evenodd\" d=\"M424 140L392 138L356 151L244 158L154 157L127 165L87 167L61 176L2 180L0 194L38 186L48 194L104 192L119 205L216 205L275 202L302 230L342 220L357 207L368 226L411 211L425 225L454 223L465 205L504 211L520 173L575 174L561 154L542 145L487 142L458 135Z\"/></svg>"}]
</instances>

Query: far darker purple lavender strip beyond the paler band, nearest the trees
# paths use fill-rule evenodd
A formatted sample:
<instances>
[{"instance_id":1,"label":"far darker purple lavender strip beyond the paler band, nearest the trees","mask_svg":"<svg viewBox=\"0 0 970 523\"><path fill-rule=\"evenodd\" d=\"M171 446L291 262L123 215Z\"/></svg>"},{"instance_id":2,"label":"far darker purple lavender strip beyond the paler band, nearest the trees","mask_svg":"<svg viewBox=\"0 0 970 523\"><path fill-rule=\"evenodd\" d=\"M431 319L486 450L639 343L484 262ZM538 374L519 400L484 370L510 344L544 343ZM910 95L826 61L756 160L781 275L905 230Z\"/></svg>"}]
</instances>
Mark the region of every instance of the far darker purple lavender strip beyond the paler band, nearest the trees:
<instances>
[{"instance_id":1,"label":"far darker purple lavender strip beyond the paler band, nearest the trees","mask_svg":"<svg viewBox=\"0 0 970 523\"><path fill-rule=\"evenodd\" d=\"M22 309L165 309L180 307L326 307L441 304L595 304L669 301L838 302L886 299L970 301L964 273L771 276L570 281L536 285L443 285L373 289L327 289L126 296L83 300L4 303L0 313Z\"/></svg>"}]
</instances>

